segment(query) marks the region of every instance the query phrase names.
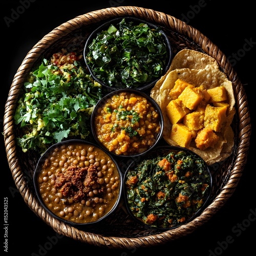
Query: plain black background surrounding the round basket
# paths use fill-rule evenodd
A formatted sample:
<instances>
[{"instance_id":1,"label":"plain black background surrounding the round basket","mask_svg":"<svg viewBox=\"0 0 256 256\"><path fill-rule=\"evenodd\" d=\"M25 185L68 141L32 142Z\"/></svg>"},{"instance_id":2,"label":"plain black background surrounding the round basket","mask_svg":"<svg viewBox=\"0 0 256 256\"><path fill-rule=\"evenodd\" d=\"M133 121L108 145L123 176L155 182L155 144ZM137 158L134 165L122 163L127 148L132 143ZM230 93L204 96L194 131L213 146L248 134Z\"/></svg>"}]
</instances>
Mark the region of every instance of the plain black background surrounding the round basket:
<instances>
[{"instance_id":1,"label":"plain black background surrounding the round basket","mask_svg":"<svg viewBox=\"0 0 256 256\"><path fill-rule=\"evenodd\" d=\"M27 2L24 12L7 23L13 11ZM151 1L152 2L152 1ZM255 17L249 1L239 5L233 1L2 1L2 78L1 82L1 172L4 198L8 197L9 255L233 255L255 253L255 165L252 134L247 163L233 195L207 223L185 237L159 246L136 249L108 249L89 245L68 237L59 237L47 250L40 250L55 237L56 232L38 218L16 190L8 165L3 130L3 115L12 79L29 50L46 34L62 23L90 11L117 7L138 6L164 12L183 19L188 25L207 36L230 61L244 85L250 117L254 119L255 94ZM225 6L224 6L225 4ZM201 7L200 7L201 6ZM20 10L20 9L19 9ZM248 43L250 42L250 44ZM235 57L236 56L236 57ZM254 212L254 216L252 215ZM249 217L252 217L249 219ZM236 230L236 231L235 231ZM3 231L4 236L4 231ZM232 238L227 243L228 238ZM253 244L254 242L254 244ZM48 243L49 244L49 243ZM3 248L4 250L4 248ZM211 251L213 253L211 253Z\"/></svg>"}]
</instances>

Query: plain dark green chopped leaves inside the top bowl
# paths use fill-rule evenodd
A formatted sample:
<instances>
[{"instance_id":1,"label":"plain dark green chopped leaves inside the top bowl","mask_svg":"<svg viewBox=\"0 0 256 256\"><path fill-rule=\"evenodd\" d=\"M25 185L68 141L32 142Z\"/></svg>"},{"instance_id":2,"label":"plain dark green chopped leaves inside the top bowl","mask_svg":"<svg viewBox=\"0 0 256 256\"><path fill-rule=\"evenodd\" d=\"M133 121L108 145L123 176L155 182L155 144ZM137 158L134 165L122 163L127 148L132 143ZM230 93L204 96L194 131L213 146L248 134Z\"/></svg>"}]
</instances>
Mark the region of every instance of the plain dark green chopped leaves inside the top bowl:
<instances>
[{"instance_id":1,"label":"plain dark green chopped leaves inside the top bowl","mask_svg":"<svg viewBox=\"0 0 256 256\"><path fill-rule=\"evenodd\" d=\"M167 61L163 35L125 18L93 38L86 55L93 74L107 86L137 88L160 78Z\"/></svg>"}]
</instances>

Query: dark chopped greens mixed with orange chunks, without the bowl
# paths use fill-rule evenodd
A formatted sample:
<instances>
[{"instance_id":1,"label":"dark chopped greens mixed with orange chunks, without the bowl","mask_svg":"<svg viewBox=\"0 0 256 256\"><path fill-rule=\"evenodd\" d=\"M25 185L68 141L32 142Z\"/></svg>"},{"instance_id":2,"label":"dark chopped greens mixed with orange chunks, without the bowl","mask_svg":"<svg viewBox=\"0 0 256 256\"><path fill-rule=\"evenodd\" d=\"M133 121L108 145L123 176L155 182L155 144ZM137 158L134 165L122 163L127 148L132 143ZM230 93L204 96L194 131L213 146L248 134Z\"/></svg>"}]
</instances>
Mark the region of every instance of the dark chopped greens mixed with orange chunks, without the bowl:
<instances>
[{"instance_id":1,"label":"dark chopped greens mixed with orange chunks, without the bowl","mask_svg":"<svg viewBox=\"0 0 256 256\"><path fill-rule=\"evenodd\" d=\"M132 214L157 228L174 228L202 208L211 178L205 162L184 151L146 157L127 171L126 200Z\"/></svg>"}]
</instances>

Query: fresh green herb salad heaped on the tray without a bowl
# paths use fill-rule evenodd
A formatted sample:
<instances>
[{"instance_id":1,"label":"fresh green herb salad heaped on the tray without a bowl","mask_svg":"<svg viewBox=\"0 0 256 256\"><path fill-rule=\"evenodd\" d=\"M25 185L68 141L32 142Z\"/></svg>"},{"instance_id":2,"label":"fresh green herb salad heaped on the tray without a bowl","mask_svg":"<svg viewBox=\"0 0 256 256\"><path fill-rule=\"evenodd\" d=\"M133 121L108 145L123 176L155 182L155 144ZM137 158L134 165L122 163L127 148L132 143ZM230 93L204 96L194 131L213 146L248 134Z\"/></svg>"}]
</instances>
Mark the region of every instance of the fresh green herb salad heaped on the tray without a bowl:
<instances>
[{"instance_id":1,"label":"fresh green herb salad heaped on the tray without a bowl","mask_svg":"<svg viewBox=\"0 0 256 256\"><path fill-rule=\"evenodd\" d=\"M42 154L67 138L86 139L101 86L81 66L82 55L62 50L30 73L14 115L23 152Z\"/></svg>"}]
</instances>

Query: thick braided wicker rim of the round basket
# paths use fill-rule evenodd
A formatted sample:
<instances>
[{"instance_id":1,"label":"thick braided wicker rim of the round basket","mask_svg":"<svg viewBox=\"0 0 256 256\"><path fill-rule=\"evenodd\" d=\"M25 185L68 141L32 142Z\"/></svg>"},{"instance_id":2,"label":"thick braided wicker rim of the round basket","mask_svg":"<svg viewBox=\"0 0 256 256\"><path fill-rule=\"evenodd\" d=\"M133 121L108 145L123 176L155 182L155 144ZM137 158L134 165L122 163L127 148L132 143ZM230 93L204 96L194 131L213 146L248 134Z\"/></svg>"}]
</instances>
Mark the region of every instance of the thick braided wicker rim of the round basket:
<instances>
[{"instance_id":1,"label":"thick braided wicker rim of the round basket","mask_svg":"<svg viewBox=\"0 0 256 256\"><path fill-rule=\"evenodd\" d=\"M237 109L239 117L239 142L236 152L237 157L233 163L233 168L230 170L230 178L225 186L222 187L220 194L214 199L214 201L212 201L210 205L208 205L206 209L204 209L199 217L195 218L190 223L176 229L163 231L157 235L136 238L105 237L99 234L79 230L75 227L53 219L46 212L46 210L40 206L34 193L32 193L29 185L27 184L25 174L18 164L18 158L15 153L16 145L13 120L17 97L20 89L23 86L23 77L28 73L27 70L32 68L34 62L42 53L44 53L46 49L53 45L59 38L68 35L72 31L77 30L84 25L90 26L102 19L127 15L145 19L148 22L166 27L169 30L190 38L193 42L195 42L196 45L200 46L206 54L214 57L217 60L223 72L227 75L229 80L232 81L234 94L237 101L240 103ZM8 164L15 184L20 194L22 194L26 204L28 204L35 214L50 225L56 232L62 233L67 237L79 240L81 242L103 247L106 246L109 248L135 248L138 246L145 247L159 245L170 240L175 240L186 236L186 234L193 232L196 228L208 221L226 203L237 187L247 160L246 152L249 149L250 134L251 124L245 91L237 76L237 73L233 70L232 66L228 62L228 59L221 52L221 50L200 31L185 24L181 20L163 12L135 6L111 7L88 12L61 24L45 35L28 52L18 68L11 84L4 113L4 140Z\"/></svg>"}]
</instances>

